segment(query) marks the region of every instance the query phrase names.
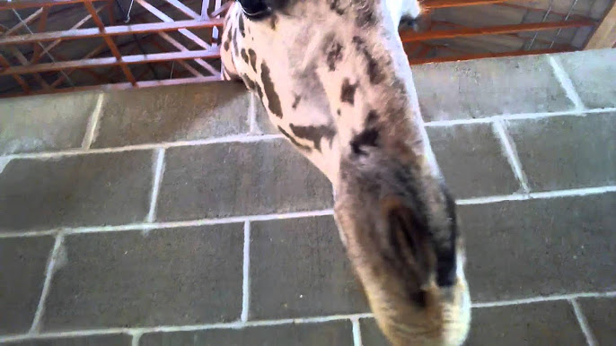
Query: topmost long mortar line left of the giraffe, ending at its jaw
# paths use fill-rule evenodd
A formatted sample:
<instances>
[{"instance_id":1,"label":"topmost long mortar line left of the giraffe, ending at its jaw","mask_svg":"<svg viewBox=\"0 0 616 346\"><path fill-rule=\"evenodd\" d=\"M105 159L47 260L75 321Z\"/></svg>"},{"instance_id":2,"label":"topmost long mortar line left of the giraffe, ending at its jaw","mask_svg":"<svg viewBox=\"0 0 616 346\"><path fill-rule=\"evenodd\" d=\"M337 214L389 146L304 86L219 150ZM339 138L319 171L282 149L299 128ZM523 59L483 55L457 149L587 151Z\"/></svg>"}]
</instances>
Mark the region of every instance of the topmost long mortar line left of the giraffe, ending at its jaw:
<instances>
[{"instance_id":1,"label":"topmost long mortar line left of the giraffe, ending at its jaw","mask_svg":"<svg viewBox=\"0 0 616 346\"><path fill-rule=\"evenodd\" d=\"M209 145L218 143L255 143L273 141L277 139L285 138L282 134L233 134L224 137L208 138L195 141L178 141L178 142L164 142L164 143L145 143L145 144L133 144L122 147L111 148L97 148L97 149L69 149L66 151L43 151L43 152L29 152L19 154L9 154L0 156L0 159L53 159L63 156L73 155L86 155L86 154L98 154L107 152L121 152L121 151L142 151L142 150L155 150L155 149L169 149L175 147L187 147L198 145Z\"/></svg>"}]
</instances>

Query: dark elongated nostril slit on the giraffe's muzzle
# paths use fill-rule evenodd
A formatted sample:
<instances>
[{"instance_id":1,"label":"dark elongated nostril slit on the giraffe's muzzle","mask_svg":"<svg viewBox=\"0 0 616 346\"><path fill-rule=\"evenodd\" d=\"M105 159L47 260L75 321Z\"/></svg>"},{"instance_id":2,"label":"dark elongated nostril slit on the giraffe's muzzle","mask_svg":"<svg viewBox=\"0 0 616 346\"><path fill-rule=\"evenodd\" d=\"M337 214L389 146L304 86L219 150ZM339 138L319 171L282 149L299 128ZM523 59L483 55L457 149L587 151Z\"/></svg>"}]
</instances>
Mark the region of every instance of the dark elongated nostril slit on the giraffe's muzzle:
<instances>
[{"instance_id":1,"label":"dark elongated nostril slit on the giraffe's muzzle","mask_svg":"<svg viewBox=\"0 0 616 346\"><path fill-rule=\"evenodd\" d=\"M409 289L420 290L429 283L436 264L425 217L397 197L383 199L382 211L392 253L412 278Z\"/></svg>"}]
</instances>

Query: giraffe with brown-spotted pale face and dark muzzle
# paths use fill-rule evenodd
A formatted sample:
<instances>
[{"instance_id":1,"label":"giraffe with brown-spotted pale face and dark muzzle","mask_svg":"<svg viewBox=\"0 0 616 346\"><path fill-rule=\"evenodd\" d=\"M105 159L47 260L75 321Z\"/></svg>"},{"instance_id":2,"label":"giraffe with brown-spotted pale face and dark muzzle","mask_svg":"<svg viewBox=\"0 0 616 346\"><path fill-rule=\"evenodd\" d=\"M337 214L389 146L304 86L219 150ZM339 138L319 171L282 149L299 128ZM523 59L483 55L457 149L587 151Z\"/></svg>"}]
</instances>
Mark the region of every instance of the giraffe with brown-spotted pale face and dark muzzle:
<instances>
[{"instance_id":1,"label":"giraffe with brown-spotted pale face and dark muzzle","mask_svg":"<svg viewBox=\"0 0 616 346\"><path fill-rule=\"evenodd\" d=\"M238 0L223 75L256 92L330 179L340 238L389 342L460 345L471 321L462 234L398 35L420 13L417 0Z\"/></svg>"}]
</instances>

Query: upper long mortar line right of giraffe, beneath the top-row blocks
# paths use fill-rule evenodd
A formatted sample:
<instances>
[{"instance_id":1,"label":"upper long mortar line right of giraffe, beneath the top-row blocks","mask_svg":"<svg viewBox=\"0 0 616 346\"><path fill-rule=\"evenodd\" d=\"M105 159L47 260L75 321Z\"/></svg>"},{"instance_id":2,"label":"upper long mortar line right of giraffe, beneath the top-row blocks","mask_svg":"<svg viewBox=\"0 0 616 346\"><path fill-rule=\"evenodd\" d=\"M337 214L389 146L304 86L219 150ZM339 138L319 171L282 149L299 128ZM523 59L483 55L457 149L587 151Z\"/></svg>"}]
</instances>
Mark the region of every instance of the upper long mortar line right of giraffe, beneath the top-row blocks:
<instances>
[{"instance_id":1,"label":"upper long mortar line right of giraffe, beneath the top-row blocks","mask_svg":"<svg viewBox=\"0 0 616 346\"><path fill-rule=\"evenodd\" d=\"M542 119L546 117L585 117L589 114L596 113L613 113L616 111L616 107L611 108L594 108L584 110L566 110L559 112L547 112L547 113L518 113L508 115L497 115L491 117L477 117L471 119L453 119L453 120L435 120L426 122L427 127L437 126L451 126L451 125L471 125L471 124L488 124L495 120L526 120L526 119Z\"/></svg>"}]
</instances>

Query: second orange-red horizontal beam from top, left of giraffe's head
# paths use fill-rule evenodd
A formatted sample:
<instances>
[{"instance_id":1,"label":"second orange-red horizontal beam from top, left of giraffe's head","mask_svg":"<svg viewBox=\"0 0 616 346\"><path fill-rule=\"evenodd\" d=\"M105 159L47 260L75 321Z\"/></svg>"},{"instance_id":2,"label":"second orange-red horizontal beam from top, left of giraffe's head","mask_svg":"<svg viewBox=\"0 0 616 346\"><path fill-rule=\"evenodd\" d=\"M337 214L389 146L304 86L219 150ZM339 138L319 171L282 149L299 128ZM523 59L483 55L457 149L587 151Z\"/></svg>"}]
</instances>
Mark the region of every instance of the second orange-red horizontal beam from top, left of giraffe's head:
<instances>
[{"instance_id":1,"label":"second orange-red horizontal beam from top, left of giraffe's head","mask_svg":"<svg viewBox=\"0 0 616 346\"><path fill-rule=\"evenodd\" d=\"M215 26L223 26L223 20L216 18L208 21L150 22L146 24L118 25L106 27L103 32L98 28L48 31L29 35L3 36L0 37L0 46L20 45L36 41L53 41L56 39L89 39L100 38L106 35L119 36L179 29L212 28Z\"/></svg>"}]
</instances>

